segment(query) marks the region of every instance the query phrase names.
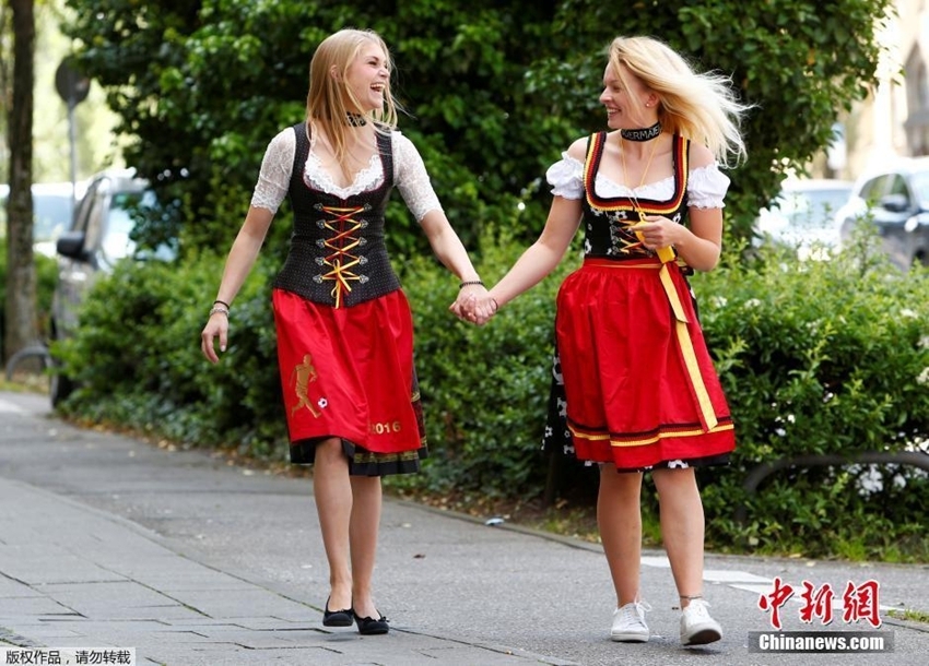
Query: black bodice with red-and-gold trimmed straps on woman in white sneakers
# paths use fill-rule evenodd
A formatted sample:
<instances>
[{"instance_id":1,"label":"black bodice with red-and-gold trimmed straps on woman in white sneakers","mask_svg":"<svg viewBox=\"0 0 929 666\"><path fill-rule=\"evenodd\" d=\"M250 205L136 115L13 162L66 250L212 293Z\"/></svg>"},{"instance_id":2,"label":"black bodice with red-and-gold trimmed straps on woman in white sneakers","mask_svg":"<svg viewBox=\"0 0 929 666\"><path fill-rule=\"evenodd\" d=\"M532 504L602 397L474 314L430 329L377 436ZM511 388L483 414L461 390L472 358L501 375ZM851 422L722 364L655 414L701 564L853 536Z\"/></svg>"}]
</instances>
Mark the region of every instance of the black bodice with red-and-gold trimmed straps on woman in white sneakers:
<instances>
[{"instance_id":1,"label":"black bodice with red-and-gold trimmed straps on woman in white sneakers","mask_svg":"<svg viewBox=\"0 0 929 666\"><path fill-rule=\"evenodd\" d=\"M690 142L679 134L672 138L672 157L674 163L674 193L668 201L652 199L630 199L627 197L603 198L595 190L593 182L600 170L600 159L607 133L599 132L590 136L587 144L587 157L584 162L584 257L612 259L645 259L655 257L646 249L635 231L630 229L640 222L640 213L663 215L682 223L687 206L687 146Z\"/></svg>"}]
</instances>

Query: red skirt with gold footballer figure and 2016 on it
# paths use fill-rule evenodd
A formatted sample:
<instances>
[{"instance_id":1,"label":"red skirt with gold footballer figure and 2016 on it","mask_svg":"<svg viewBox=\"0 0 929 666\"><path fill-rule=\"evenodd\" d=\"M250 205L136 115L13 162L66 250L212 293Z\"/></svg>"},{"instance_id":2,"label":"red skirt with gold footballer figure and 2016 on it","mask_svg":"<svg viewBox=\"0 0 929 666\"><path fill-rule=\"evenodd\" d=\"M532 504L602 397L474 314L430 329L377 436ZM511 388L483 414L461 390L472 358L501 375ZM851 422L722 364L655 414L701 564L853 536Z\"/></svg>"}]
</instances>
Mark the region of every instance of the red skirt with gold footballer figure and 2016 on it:
<instances>
[{"instance_id":1,"label":"red skirt with gold footballer figure and 2016 on it","mask_svg":"<svg viewBox=\"0 0 929 666\"><path fill-rule=\"evenodd\" d=\"M291 462L311 463L338 437L352 474L419 471L426 437L403 292L333 308L274 289L272 302Z\"/></svg>"}]
</instances>

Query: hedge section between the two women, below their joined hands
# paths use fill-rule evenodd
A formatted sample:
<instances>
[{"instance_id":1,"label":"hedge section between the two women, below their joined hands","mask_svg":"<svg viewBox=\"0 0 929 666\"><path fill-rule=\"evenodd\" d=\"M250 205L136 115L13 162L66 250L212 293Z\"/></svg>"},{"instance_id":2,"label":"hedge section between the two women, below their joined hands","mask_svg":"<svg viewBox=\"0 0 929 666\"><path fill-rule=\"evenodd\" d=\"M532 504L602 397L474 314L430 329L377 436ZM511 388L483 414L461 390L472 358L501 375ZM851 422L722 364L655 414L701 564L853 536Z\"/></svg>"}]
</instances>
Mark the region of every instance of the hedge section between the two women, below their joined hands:
<instances>
[{"instance_id":1,"label":"hedge section between the two women, below their joined hands","mask_svg":"<svg viewBox=\"0 0 929 666\"><path fill-rule=\"evenodd\" d=\"M524 249L508 231L485 230L477 266L483 281L499 280ZM403 283L432 457L424 474L395 483L507 498L542 491L555 293L577 258L572 251L553 275L481 328L448 311L458 295L448 271L431 257L408 263Z\"/></svg>"}]
</instances>

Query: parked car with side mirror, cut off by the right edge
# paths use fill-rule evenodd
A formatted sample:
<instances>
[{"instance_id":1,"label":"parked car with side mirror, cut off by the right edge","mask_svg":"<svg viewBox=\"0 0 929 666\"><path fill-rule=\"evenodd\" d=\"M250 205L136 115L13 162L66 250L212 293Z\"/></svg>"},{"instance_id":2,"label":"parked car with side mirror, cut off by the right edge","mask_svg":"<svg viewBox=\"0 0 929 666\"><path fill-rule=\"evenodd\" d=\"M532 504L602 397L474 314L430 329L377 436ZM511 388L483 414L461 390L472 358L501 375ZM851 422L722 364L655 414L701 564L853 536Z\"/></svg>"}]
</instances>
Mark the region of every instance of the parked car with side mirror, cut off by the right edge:
<instances>
[{"instance_id":1,"label":"parked car with side mirror, cut off by the right edge","mask_svg":"<svg viewBox=\"0 0 929 666\"><path fill-rule=\"evenodd\" d=\"M843 243L862 222L877 227L901 269L929 265L929 157L903 158L859 178L836 213Z\"/></svg>"}]
</instances>

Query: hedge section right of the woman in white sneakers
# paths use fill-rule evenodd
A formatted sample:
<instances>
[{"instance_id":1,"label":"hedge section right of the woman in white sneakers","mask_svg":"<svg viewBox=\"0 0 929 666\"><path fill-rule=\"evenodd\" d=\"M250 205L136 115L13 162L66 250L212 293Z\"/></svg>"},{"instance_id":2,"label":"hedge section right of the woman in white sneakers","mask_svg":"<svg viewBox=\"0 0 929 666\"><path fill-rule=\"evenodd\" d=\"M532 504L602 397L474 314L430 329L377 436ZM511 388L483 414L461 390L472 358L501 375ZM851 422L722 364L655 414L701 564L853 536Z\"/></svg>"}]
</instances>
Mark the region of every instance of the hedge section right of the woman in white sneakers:
<instances>
[{"instance_id":1,"label":"hedge section right of the woman in white sneakers","mask_svg":"<svg viewBox=\"0 0 929 666\"><path fill-rule=\"evenodd\" d=\"M870 557L890 547L929 556L918 538L929 508L920 468L793 466L757 492L743 488L750 471L779 459L926 451L929 281L920 267L894 270L875 243L862 233L832 261L771 252L694 278L737 425L731 467L704 475L717 547L815 556L857 544ZM905 547L902 534L912 535Z\"/></svg>"}]
</instances>

